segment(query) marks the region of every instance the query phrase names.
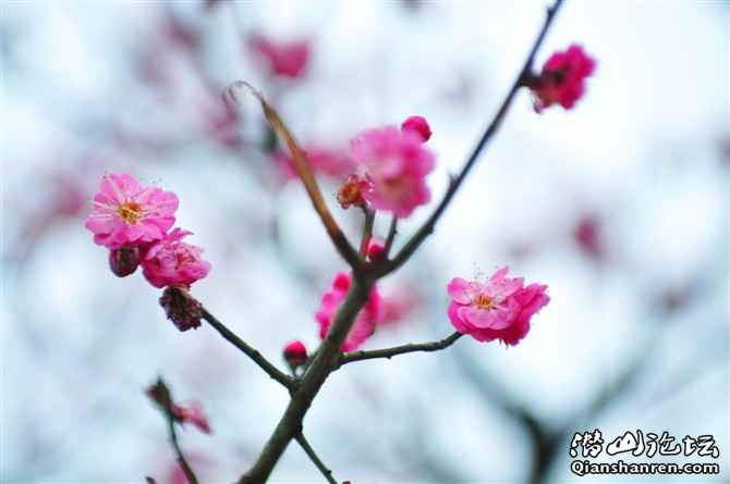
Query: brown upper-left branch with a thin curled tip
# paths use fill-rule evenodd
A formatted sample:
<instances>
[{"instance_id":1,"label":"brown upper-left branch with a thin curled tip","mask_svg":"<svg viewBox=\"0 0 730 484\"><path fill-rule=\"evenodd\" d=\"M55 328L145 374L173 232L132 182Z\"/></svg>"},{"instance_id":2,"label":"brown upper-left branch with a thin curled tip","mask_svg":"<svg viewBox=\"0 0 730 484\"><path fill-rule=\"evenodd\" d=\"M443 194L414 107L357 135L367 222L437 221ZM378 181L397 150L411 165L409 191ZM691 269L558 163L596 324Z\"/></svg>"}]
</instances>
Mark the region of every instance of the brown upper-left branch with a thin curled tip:
<instances>
[{"instance_id":1,"label":"brown upper-left branch with a thin curled tip","mask_svg":"<svg viewBox=\"0 0 730 484\"><path fill-rule=\"evenodd\" d=\"M344 233L340 229L339 225L334 221L334 218L330 213L329 209L327 208L327 203L325 203L325 199L321 195L321 190L319 189L319 185L317 184L317 179L312 174L312 169L309 167L309 161L307 160L306 152L299 146L294 135L292 135L283 121L281 121L279 113L266 101L264 95L257 91L251 84L243 80L238 80L231 85L227 92L233 100L236 100L233 89L241 87L247 87L251 92L256 96L256 99L258 99L258 102L261 104L261 109L264 110L266 121L268 121L271 129L273 129L287 145L289 153L292 157L292 161L294 162L294 169L302 179L302 184L304 184L304 188L309 196L309 200L312 200L312 204L314 206L315 211L325 225L329 238L332 240L332 244L334 244L337 251L350 264L353 271L358 271L361 268L361 260L360 257L357 257L357 251L355 251L355 249L352 247Z\"/></svg>"}]
</instances>

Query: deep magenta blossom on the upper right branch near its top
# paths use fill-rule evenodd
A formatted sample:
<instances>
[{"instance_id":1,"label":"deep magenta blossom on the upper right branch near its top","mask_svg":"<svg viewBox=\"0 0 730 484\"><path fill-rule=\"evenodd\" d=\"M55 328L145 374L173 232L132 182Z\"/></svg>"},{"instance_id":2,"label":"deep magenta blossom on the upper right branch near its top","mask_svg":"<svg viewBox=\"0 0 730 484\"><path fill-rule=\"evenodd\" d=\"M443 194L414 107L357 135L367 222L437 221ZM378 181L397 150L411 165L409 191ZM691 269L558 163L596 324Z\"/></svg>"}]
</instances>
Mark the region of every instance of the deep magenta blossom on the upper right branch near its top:
<instances>
[{"instance_id":1,"label":"deep magenta blossom on the upper right branch near its top","mask_svg":"<svg viewBox=\"0 0 730 484\"><path fill-rule=\"evenodd\" d=\"M593 74L596 62L581 46L572 45L556 52L543 65L543 72L528 80L535 96L535 111L558 103L571 109L585 92L585 78Z\"/></svg>"}]
</instances>

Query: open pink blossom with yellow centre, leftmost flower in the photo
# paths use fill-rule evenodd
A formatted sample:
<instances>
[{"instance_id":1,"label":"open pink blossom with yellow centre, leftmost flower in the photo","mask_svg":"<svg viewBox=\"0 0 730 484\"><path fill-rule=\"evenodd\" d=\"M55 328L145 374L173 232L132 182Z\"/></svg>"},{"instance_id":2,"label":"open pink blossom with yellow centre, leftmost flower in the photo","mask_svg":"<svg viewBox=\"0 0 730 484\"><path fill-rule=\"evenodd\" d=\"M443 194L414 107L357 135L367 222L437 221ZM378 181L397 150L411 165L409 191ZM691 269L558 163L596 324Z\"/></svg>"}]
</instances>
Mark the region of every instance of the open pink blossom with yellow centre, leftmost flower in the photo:
<instances>
[{"instance_id":1,"label":"open pink blossom with yellow centre, leftmost flower in the photo","mask_svg":"<svg viewBox=\"0 0 730 484\"><path fill-rule=\"evenodd\" d=\"M142 187L131 175L109 174L94 196L86 228L94 241L110 249L161 239L174 224L178 197L158 187Z\"/></svg>"}]
</instances>

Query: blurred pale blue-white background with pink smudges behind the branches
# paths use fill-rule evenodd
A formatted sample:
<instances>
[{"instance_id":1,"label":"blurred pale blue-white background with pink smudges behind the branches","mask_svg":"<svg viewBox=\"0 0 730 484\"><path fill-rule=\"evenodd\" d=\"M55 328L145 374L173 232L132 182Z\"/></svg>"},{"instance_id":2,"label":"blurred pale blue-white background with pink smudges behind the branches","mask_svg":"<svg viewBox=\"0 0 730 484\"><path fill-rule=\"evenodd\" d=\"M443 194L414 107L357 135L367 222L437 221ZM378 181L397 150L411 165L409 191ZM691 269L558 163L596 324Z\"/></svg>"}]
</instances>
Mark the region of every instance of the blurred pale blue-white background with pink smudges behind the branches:
<instances>
[{"instance_id":1,"label":"blurred pale blue-white background with pink smudges behind the branches","mask_svg":"<svg viewBox=\"0 0 730 484\"><path fill-rule=\"evenodd\" d=\"M257 86L325 160L364 128L422 114L438 199L546 5L4 2L2 481L183 482L144 396L161 374L209 415L211 436L181 432L198 475L231 482L288 402L206 324L178 332L141 274L110 274L84 228L105 173L179 195L178 225L212 263L194 296L283 368L284 343L316 347L319 297L345 265L260 109L243 92L228 109L221 92ZM390 317L364 348L450 334L454 276L509 264L552 301L516 347L464 338L334 373L305 433L340 481L577 482L571 438L597 427L607 442L711 434L717 460L634 460L719 462L721 474L583 480L730 482L730 4L569 0L537 66L571 42L598 62L585 98L537 115L520 92L436 233L382 282ZM339 208L341 174L321 166L355 239L362 214ZM430 210L401 223L397 246ZM321 477L292 445L272 480Z\"/></svg>"}]
</instances>

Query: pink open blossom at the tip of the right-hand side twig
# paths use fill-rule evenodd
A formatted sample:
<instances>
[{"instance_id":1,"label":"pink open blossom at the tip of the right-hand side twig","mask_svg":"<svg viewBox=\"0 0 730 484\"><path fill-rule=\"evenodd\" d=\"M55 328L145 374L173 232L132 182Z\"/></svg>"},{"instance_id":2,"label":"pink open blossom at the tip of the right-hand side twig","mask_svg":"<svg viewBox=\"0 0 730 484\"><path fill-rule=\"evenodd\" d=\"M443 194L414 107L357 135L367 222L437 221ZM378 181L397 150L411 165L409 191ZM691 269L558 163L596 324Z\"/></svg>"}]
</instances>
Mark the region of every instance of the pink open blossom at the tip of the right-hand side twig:
<instances>
[{"instance_id":1,"label":"pink open blossom at the tip of the right-hand side twig","mask_svg":"<svg viewBox=\"0 0 730 484\"><path fill-rule=\"evenodd\" d=\"M501 339L507 345L516 345L525 337L531 318L550 298L546 285L523 287L522 277L509 278L508 271L507 266L500 269L486 284L461 277L449 283L449 319L459 333L479 342Z\"/></svg>"}]
</instances>

